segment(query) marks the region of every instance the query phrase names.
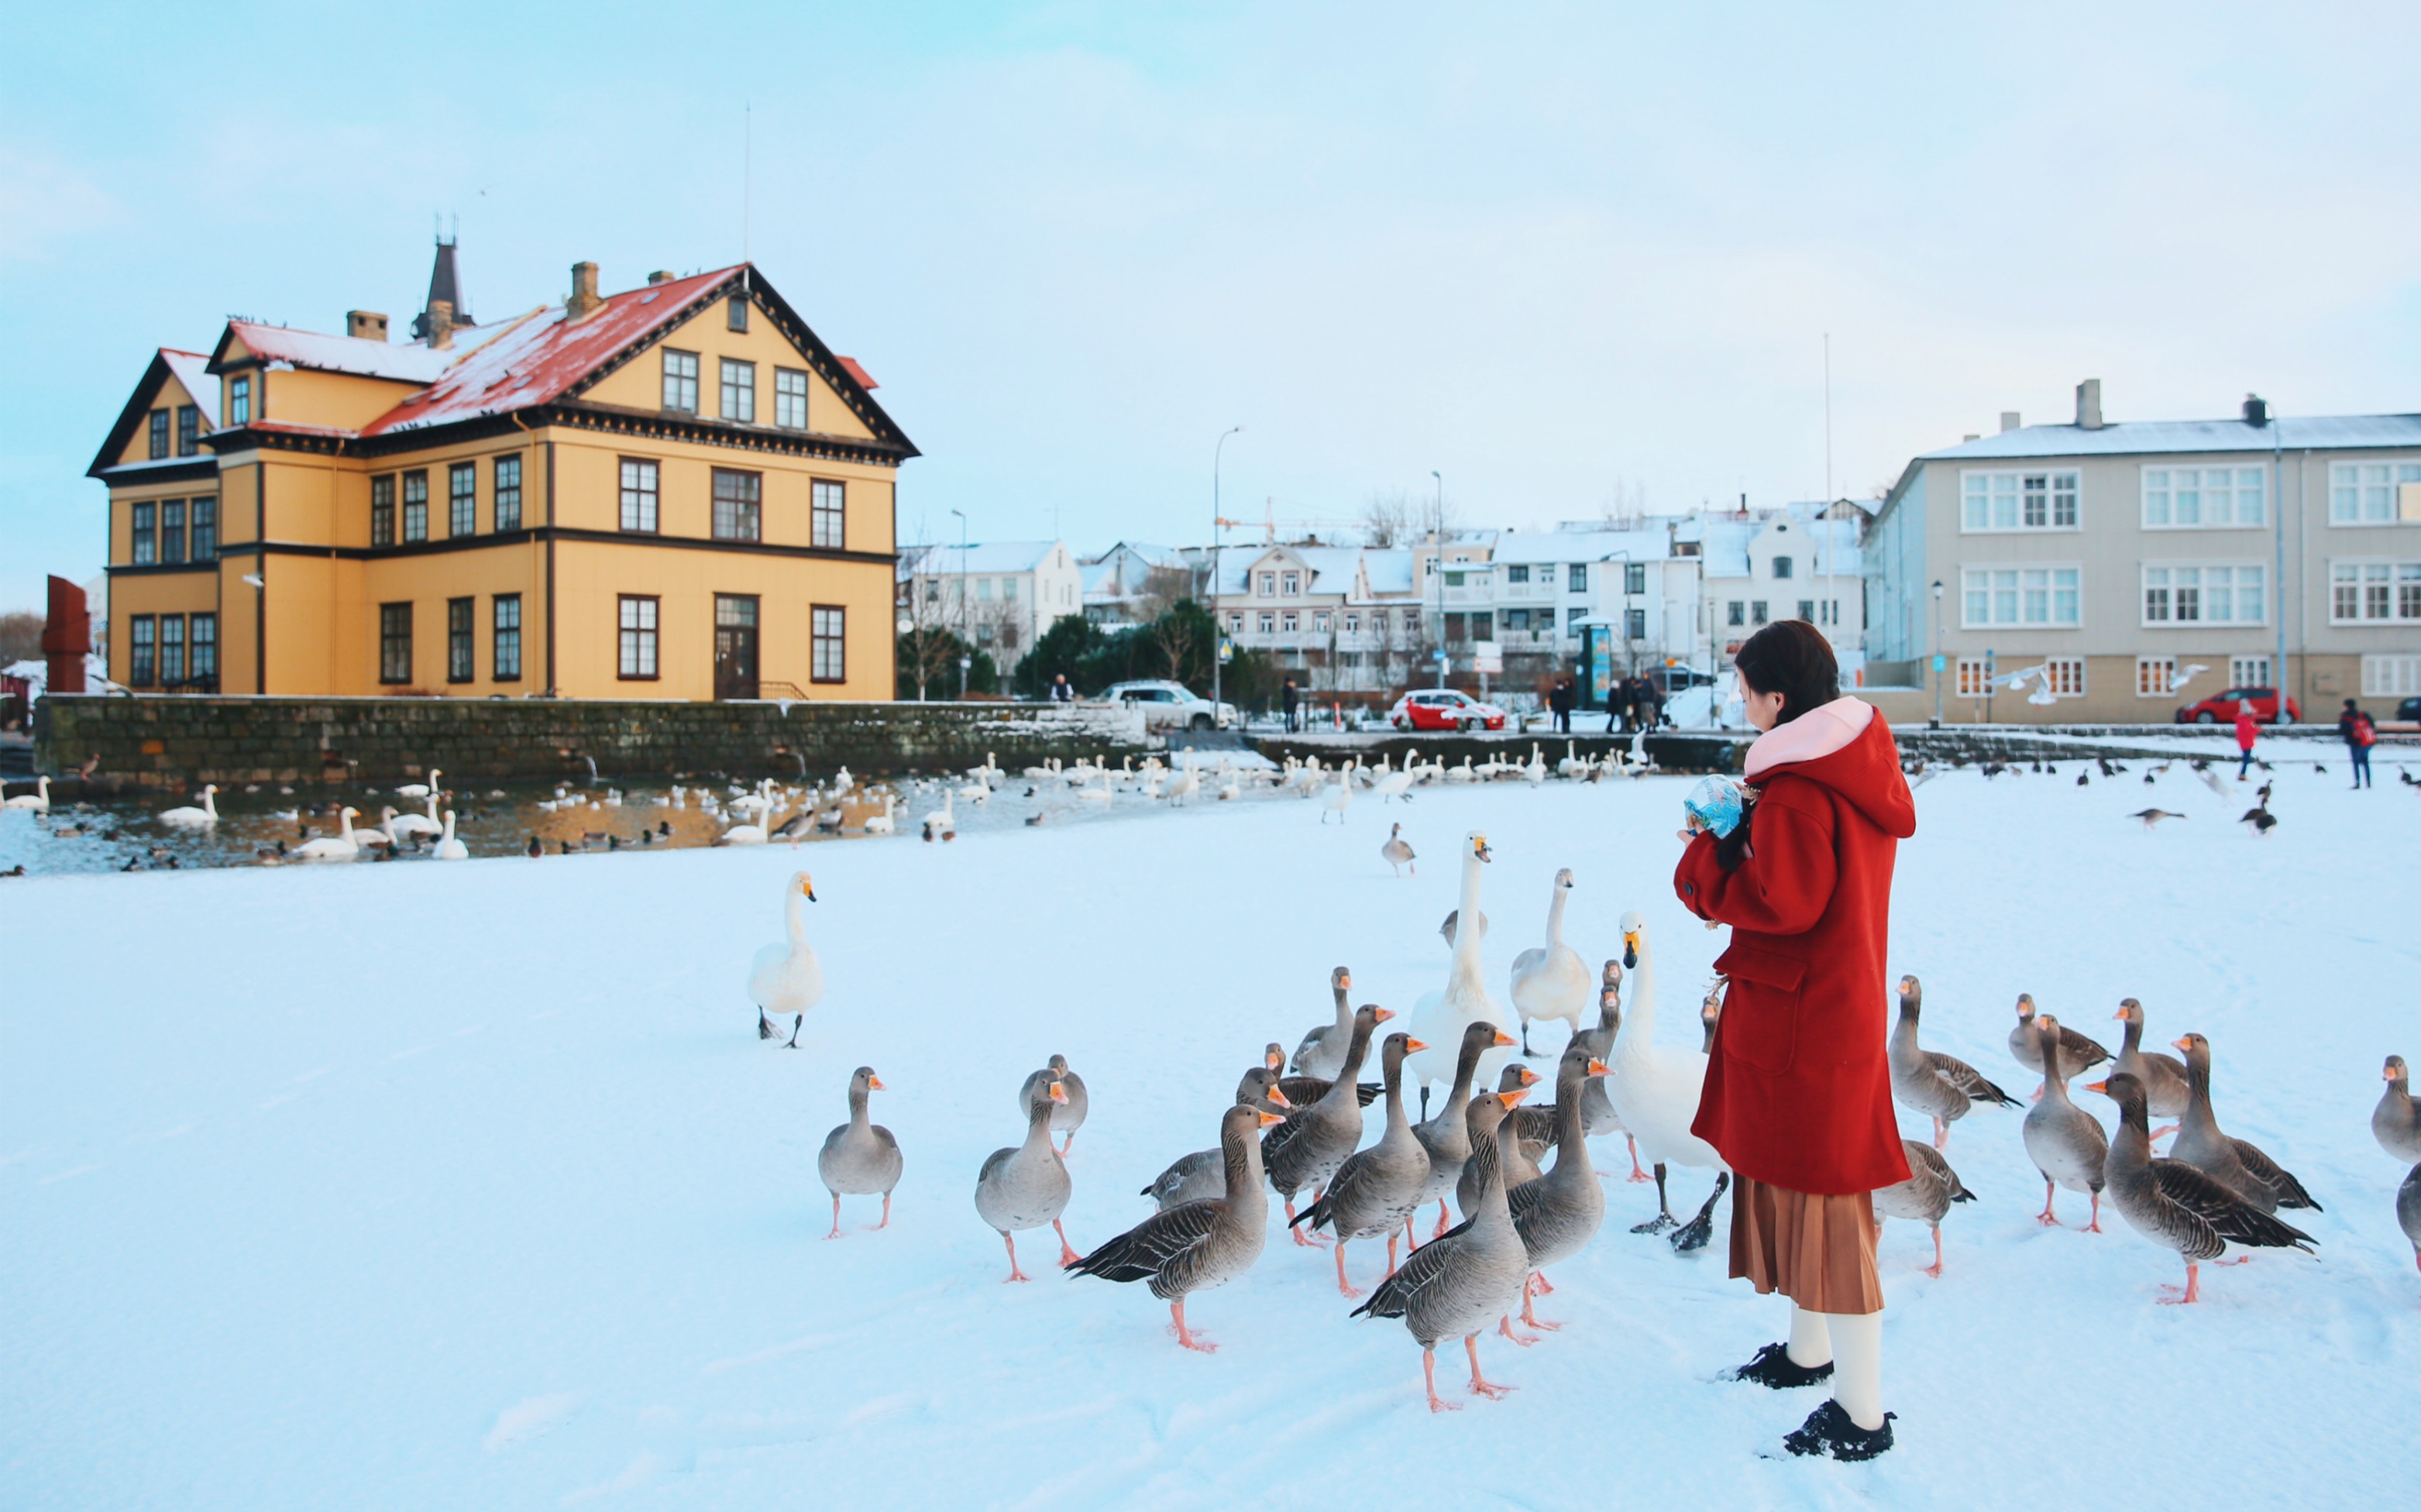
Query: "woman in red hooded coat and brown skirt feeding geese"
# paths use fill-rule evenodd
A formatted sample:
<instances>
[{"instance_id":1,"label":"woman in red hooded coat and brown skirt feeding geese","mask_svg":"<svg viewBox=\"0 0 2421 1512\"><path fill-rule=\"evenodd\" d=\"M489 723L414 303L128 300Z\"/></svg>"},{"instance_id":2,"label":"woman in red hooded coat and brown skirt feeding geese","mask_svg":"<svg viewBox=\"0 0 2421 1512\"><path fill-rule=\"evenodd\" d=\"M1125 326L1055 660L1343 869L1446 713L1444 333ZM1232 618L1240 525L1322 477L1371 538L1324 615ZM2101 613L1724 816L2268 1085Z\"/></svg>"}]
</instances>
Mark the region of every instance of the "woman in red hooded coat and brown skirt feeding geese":
<instances>
[{"instance_id":1,"label":"woman in red hooded coat and brown skirt feeding geese","mask_svg":"<svg viewBox=\"0 0 2421 1512\"><path fill-rule=\"evenodd\" d=\"M1729 835L1690 839L1673 888L1731 924L1714 963L1731 989L1692 1132L1724 1154L1731 1275L1792 1299L1789 1343L1733 1372L1765 1386L1833 1377L1833 1398L1784 1437L1792 1454L1871 1459L1884 1410L1876 1188L1908 1181L1884 1050L1891 864L1917 832L1900 748L1804 619L1767 624L1733 665L1753 798Z\"/></svg>"}]
</instances>

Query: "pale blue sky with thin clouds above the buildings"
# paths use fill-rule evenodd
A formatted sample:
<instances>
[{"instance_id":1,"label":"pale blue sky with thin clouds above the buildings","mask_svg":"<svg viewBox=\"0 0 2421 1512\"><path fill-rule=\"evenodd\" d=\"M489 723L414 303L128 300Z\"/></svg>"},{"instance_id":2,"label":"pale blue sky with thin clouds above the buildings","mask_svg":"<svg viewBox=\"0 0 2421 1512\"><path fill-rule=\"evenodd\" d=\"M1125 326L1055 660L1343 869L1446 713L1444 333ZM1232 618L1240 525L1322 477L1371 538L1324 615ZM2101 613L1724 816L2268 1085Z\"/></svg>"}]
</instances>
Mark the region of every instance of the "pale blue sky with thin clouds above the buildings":
<instances>
[{"instance_id":1,"label":"pale blue sky with thin clouds above the buildings","mask_svg":"<svg viewBox=\"0 0 2421 1512\"><path fill-rule=\"evenodd\" d=\"M344 15L332 15L341 10ZM1944 15L1956 12L1956 15ZM1198 539L1825 481L1997 411L2421 409L2404 7L44 5L0 53L0 605L155 346L753 254L901 527Z\"/></svg>"}]
</instances>

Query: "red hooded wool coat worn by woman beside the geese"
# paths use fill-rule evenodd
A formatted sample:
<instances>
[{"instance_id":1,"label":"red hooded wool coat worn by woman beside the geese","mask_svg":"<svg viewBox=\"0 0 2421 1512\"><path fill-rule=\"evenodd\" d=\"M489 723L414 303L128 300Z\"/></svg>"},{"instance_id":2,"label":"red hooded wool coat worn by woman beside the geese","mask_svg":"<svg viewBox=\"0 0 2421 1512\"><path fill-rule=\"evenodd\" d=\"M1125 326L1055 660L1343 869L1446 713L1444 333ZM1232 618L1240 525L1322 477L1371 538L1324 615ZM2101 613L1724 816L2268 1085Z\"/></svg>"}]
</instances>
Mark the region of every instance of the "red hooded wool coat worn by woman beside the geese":
<instances>
[{"instance_id":1,"label":"red hooded wool coat worn by woman beside the geese","mask_svg":"<svg viewBox=\"0 0 2421 1512\"><path fill-rule=\"evenodd\" d=\"M1900 748L1876 714L1840 750L1753 786L1753 854L1726 873L1700 835L1673 871L1692 914L1731 924L1714 963L1731 989L1690 1130L1741 1176L1794 1193L1908 1181L1884 1052L1891 861L1917 832Z\"/></svg>"}]
</instances>

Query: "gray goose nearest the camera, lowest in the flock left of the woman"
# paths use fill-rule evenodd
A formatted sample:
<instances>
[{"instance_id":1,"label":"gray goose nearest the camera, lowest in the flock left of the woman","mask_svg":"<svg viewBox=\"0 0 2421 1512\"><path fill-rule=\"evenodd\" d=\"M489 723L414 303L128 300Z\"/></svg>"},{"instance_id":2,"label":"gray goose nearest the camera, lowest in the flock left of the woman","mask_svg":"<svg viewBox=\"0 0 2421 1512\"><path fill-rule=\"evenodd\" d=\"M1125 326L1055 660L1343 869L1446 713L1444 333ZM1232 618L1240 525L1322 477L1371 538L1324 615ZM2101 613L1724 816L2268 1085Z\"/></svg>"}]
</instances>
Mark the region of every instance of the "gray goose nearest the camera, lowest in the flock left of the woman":
<instances>
[{"instance_id":1,"label":"gray goose nearest the camera, lowest in the flock left of the woman","mask_svg":"<svg viewBox=\"0 0 2421 1512\"><path fill-rule=\"evenodd\" d=\"M1501 1106L1518 1098L1518 1091L1494 1093ZM1460 1106L1453 1110L1467 1115ZM1508 1386L1479 1374L1479 1331L1489 1326L1489 1318L1503 1318L1513 1311L1523 1277L1530 1275L1530 1251L1513 1229L1513 1212L1506 1205L1503 1152L1499 1149L1503 1137L1511 1135L1474 1139L1474 1130L1465 1127L1467 1159L1482 1178L1479 1212L1411 1251L1394 1275L1353 1309L1356 1318L1404 1318L1404 1328L1421 1343L1421 1381L1428 1386L1431 1413L1457 1406L1438 1398L1438 1340L1457 1333L1472 1360L1472 1391L1489 1398L1508 1391Z\"/></svg>"}]
</instances>

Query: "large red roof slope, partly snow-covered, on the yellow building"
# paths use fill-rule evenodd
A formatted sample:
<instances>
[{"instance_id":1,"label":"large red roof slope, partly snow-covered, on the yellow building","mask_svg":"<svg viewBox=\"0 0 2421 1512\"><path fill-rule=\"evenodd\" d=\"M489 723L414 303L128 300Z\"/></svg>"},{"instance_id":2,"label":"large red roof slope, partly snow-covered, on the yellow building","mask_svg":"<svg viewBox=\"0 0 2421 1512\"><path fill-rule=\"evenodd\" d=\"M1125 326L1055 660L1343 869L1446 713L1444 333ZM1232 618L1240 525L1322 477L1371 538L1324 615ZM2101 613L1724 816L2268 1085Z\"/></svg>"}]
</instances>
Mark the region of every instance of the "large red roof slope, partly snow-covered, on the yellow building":
<instances>
[{"instance_id":1,"label":"large red roof slope, partly snow-covered, on the yellow building","mask_svg":"<svg viewBox=\"0 0 2421 1512\"><path fill-rule=\"evenodd\" d=\"M363 435L421 431L482 414L550 404L588 377L605 358L680 319L697 295L736 271L736 266L717 269L608 295L579 324L564 322L562 305L542 305L521 319L496 324L494 334L477 348L455 353L450 368L431 375L426 392L370 421Z\"/></svg>"}]
</instances>

